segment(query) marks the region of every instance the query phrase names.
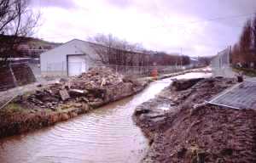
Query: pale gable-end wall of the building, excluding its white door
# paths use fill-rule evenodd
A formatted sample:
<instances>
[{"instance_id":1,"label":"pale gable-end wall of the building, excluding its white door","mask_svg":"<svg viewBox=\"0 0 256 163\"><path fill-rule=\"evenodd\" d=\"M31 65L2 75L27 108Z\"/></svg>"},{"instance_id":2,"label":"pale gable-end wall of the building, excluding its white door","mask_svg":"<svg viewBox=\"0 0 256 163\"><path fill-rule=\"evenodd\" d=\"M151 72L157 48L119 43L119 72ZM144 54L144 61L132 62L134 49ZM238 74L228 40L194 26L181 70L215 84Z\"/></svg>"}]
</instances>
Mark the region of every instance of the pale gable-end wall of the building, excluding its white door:
<instances>
[{"instance_id":1,"label":"pale gable-end wall of the building, excluding its white door","mask_svg":"<svg viewBox=\"0 0 256 163\"><path fill-rule=\"evenodd\" d=\"M40 55L42 75L67 76L67 55L70 54L86 54L88 63L91 56L96 55L88 42L74 39Z\"/></svg>"}]
</instances>

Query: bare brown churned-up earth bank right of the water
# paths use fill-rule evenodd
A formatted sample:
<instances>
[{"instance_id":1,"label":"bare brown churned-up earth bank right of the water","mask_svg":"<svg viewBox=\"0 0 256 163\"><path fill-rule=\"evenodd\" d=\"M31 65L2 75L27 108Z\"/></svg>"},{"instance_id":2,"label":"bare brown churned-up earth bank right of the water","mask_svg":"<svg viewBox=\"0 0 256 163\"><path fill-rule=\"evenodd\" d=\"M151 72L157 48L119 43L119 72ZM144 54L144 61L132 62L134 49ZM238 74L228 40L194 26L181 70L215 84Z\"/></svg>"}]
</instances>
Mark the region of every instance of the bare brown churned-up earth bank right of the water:
<instances>
[{"instance_id":1,"label":"bare brown churned-up earth bank right of the water","mask_svg":"<svg viewBox=\"0 0 256 163\"><path fill-rule=\"evenodd\" d=\"M256 162L256 112L205 103L235 83L177 81L139 106L133 118L151 140L143 162Z\"/></svg>"}]
</instances>

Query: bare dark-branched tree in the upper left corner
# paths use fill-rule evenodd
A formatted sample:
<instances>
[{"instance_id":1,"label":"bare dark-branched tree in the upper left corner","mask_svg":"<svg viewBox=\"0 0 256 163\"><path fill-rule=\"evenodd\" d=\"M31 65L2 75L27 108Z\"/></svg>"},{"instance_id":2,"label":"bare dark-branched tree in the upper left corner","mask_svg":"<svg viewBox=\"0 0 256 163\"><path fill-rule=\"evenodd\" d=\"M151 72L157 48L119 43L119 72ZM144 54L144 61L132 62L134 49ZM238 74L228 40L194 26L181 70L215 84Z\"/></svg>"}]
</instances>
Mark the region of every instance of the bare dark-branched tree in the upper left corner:
<instances>
[{"instance_id":1,"label":"bare dark-branched tree in the upper left corner","mask_svg":"<svg viewBox=\"0 0 256 163\"><path fill-rule=\"evenodd\" d=\"M0 0L0 58L6 65L15 57L17 46L32 35L40 14L29 9L29 0Z\"/></svg>"}]
</instances>

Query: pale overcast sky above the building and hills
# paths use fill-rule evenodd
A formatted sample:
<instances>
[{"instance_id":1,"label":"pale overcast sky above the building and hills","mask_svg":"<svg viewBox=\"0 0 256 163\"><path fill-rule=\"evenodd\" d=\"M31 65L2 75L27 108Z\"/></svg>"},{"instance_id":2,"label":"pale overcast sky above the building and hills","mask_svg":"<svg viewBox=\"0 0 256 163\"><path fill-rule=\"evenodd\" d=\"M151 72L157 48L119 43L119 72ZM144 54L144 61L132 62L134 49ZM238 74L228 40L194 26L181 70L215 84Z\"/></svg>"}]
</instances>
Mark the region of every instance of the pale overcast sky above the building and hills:
<instances>
[{"instance_id":1,"label":"pale overcast sky above the building and hills","mask_svg":"<svg viewBox=\"0 0 256 163\"><path fill-rule=\"evenodd\" d=\"M255 0L32 0L35 37L53 42L112 33L148 50L207 56L239 38ZM221 18L221 19L218 19Z\"/></svg>"}]
</instances>

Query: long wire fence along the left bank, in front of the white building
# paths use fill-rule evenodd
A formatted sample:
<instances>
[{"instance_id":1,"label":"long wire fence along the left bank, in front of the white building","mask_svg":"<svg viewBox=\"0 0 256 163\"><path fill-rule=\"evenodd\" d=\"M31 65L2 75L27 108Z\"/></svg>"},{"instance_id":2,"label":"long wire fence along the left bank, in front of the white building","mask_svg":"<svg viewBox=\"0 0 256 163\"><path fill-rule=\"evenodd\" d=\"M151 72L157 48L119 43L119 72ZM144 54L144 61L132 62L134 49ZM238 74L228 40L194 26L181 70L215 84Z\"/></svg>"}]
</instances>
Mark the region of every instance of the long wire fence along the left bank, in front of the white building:
<instances>
[{"instance_id":1,"label":"long wire fence along the left bank, in front of the white building","mask_svg":"<svg viewBox=\"0 0 256 163\"><path fill-rule=\"evenodd\" d=\"M51 63L47 65L47 70L44 72L46 79L48 76L52 76L52 80L59 77L68 76L68 68L66 63ZM150 76L154 70L157 70L158 74L171 74L182 70L189 70L195 68L194 65L172 65L172 66L131 66L131 65L103 65L103 64L87 64L82 63L72 63L73 69L76 71L72 75L80 75L83 72L90 70L95 67L108 67L112 69L115 73L122 75L131 76ZM38 67L38 69L40 69ZM0 76L4 76L0 80L0 91L8 90L9 88L23 86L32 82L36 82L35 70L32 70L27 62L11 64L6 67L5 70L0 70ZM41 71L38 70L40 76L42 76Z\"/></svg>"}]
</instances>

